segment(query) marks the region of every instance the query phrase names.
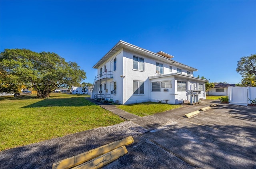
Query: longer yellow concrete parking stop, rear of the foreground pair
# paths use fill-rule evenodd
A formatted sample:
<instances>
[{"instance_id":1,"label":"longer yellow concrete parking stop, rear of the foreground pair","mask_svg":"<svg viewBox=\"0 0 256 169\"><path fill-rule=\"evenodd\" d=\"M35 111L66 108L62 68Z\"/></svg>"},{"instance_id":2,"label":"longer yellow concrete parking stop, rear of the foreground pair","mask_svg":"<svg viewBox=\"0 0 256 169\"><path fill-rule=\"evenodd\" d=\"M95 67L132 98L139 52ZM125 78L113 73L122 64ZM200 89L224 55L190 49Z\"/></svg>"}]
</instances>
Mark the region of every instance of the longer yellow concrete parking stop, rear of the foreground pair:
<instances>
[{"instance_id":1,"label":"longer yellow concrete parking stop, rear of the foreground pair","mask_svg":"<svg viewBox=\"0 0 256 169\"><path fill-rule=\"evenodd\" d=\"M121 146L129 145L133 142L134 142L134 140L133 140L132 136L126 137L122 140L114 141L112 143L102 145L98 148L95 148L95 149L86 151L84 153L74 155L73 157L63 159L61 161L53 163L52 169L68 169L68 168L74 167L76 165L80 165L82 163L85 163L86 161L89 161L89 160L94 159L96 157L99 157L100 155L104 155L104 154L106 154L110 151L113 151L114 149L117 149L117 148L121 147ZM122 150L122 152L123 151L124 150ZM117 151L117 152L119 152L119 151ZM114 151L114 154L116 154L117 152ZM112 154L113 154L113 152L110 153L109 155L112 155ZM97 162L98 162L98 159L97 159ZM92 163L90 163L89 166L91 166L91 164ZM87 166L87 165L85 165L85 166Z\"/></svg>"}]
</instances>

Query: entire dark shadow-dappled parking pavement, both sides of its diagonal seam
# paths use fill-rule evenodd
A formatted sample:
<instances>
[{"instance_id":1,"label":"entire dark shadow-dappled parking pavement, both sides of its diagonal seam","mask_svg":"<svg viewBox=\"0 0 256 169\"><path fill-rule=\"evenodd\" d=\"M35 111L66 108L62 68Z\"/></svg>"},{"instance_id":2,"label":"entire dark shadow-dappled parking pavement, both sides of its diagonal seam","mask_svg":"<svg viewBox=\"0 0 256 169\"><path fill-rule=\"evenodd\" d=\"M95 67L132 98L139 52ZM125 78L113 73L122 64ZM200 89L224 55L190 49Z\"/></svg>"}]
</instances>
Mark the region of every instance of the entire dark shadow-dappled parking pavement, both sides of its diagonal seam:
<instances>
[{"instance_id":1,"label":"entire dark shadow-dappled parking pavement, both sides of its diagonal seam","mask_svg":"<svg viewBox=\"0 0 256 169\"><path fill-rule=\"evenodd\" d=\"M218 104L136 136L104 168L256 169L256 108Z\"/></svg>"}]
</instances>

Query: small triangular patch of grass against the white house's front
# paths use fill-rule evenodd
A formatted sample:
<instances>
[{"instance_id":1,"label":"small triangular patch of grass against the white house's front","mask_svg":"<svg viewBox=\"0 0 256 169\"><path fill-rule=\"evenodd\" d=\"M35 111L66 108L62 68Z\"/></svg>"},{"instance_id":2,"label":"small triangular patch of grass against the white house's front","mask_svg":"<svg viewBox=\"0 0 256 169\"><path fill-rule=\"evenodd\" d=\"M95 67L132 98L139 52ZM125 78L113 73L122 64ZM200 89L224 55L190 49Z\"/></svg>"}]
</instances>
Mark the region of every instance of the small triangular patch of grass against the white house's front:
<instances>
[{"instance_id":1,"label":"small triangular patch of grass against the white house's front","mask_svg":"<svg viewBox=\"0 0 256 169\"><path fill-rule=\"evenodd\" d=\"M167 110L171 110L179 107L181 107L181 105L162 104L162 103L155 103L155 102L144 102L139 104L117 106L117 108L120 108L126 112L136 114L141 117L156 114L159 112L165 112Z\"/></svg>"}]
</instances>

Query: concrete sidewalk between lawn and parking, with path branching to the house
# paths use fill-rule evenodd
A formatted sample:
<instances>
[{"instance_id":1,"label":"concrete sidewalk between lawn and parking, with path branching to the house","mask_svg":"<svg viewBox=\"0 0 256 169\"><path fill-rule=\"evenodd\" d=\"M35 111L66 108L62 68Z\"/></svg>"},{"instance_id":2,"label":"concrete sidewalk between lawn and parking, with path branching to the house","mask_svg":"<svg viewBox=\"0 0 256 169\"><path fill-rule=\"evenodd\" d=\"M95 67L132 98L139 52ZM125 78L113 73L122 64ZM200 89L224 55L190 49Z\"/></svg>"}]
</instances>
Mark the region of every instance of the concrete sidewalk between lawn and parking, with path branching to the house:
<instances>
[{"instance_id":1,"label":"concrete sidewalk between lawn and parking, with path branching to the house","mask_svg":"<svg viewBox=\"0 0 256 169\"><path fill-rule=\"evenodd\" d=\"M91 100L90 100L91 101ZM92 100L93 101L93 100ZM93 101L96 103L96 101ZM97 103L96 103L97 104ZM169 110L166 112L154 114L151 116L139 117L134 114L130 114L123 110L119 110L112 104L102 104L98 102L99 106L113 113L121 116L130 121L122 122L113 126L100 127L76 134L70 134L61 138L54 138L51 140L42 141L22 147L17 147L0 152L0 168L1 169L41 169L41 168L52 168L54 162L66 159L73 155L94 149L96 147L105 145L112 141L120 140L127 136L135 137L135 140L144 140L148 146L153 146L156 149L156 153L159 155L166 154L167 152L158 146L149 143L139 135L149 130L154 130L164 124L174 122L180 118L183 118L184 114L199 110L200 108L209 105L208 102L196 106L184 105L182 108ZM138 143L138 142L137 142ZM145 148L145 147L144 147ZM141 151L144 151L143 149ZM146 150L145 150L146 151ZM147 148L147 151L152 149ZM152 152L148 152L150 154ZM170 157L169 157L170 156ZM169 154L168 158L175 158L174 161L177 166L188 166L184 161ZM144 158L144 157L143 157ZM154 157L157 158L158 157ZM162 157L162 160L167 157ZM158 160L161 162L161 159ZM166 161L162 161L166 163ZM151 164L153 165L153 164ZM171 163L166 163L166 166ZM157 167L157 166L152 166ZM183 168L183 167L182 167Z\"/></svg>"}]
</instances>

